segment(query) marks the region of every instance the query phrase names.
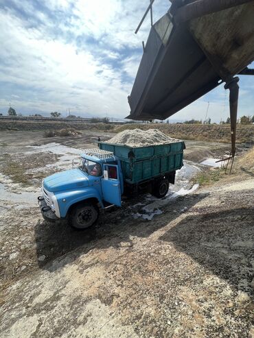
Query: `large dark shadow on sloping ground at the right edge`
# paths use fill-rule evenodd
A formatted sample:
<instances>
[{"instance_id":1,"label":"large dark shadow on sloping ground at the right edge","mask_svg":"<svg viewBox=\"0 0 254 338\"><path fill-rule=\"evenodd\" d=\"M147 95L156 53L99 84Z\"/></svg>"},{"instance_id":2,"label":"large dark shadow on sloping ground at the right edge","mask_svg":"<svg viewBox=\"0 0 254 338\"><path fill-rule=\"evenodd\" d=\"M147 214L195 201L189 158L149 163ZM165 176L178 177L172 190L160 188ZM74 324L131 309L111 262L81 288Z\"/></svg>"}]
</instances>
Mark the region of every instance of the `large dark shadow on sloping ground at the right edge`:
<instances>
[{"instance_id":1,"label":"large dark shadow on sloping ground at the right edge","mask_svg":"<svg viewBox=\"0 0 254 338\"><path fill-rule=\"evenodd\" d=\"M251 293L253 208L189 215L160 237L202 267Z\"/></svg>"}]
</instances>

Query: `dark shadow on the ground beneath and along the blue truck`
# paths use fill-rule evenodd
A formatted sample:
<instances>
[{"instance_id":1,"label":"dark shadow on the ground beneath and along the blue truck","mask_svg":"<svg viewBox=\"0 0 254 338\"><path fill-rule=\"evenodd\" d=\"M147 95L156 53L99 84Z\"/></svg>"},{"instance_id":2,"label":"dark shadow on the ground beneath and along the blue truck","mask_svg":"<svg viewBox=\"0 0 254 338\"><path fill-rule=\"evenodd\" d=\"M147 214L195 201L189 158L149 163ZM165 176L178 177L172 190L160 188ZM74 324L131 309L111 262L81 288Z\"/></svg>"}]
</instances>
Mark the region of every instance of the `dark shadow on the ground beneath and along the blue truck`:
<instances>
[{"instance_id":1,"label":"dark shadow on the ground beneath and along the blue truck","mask_svg":"<svg viewBox=\"0 0 254 338\"><path fill-rule=\"evenodd\" d=\"M93 248L119 248L121 243L132 245L130 237L149 237L183 213L183 206L192 208L207 193L186 195L169 200L162 215L155 215L151 221L134 219L132 208L137 200L127 200L122 208L103 210L98 224L91 230L77 231L67 223L49 224L38 221L35 226L36 254L41 269L54 271L86 254Z\"/></svg>"}]
</instances>

